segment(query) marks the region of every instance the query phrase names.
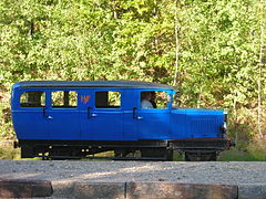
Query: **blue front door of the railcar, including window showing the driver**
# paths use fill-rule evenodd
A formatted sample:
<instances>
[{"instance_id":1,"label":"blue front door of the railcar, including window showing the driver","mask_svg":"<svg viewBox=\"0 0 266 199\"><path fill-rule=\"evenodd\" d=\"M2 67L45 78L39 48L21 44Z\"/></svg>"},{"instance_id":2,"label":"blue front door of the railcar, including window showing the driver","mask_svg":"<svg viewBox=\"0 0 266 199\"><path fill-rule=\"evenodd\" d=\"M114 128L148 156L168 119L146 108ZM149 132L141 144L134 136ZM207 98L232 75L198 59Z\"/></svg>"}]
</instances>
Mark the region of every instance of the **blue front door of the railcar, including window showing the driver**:
<instances>
[{"instance_id":1,"label":"blue front door of the railcar, including window showing the driver","mask_svg":"<svg viewBox=\"0 0 266 199\"><path fill-rule=\"evenodd\" d=\"M165 91L143 91L140 94L137 121L140 139L170 137L170 95Z\"/></svg>"}]
</instances>

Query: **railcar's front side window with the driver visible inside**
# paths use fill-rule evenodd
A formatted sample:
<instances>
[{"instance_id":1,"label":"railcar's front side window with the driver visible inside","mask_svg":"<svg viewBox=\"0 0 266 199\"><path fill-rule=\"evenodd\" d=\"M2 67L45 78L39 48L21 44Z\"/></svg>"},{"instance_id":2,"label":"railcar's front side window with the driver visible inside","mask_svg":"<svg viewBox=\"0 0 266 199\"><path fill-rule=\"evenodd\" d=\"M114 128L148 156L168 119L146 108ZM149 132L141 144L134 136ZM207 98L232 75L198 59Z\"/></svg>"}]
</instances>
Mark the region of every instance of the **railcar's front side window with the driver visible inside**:
<instances>
[{"instance_id":1,"label":"railcar's front side window with the driver visible inside","mask_svg":"<svg viewBox=\"0 0 266 199\"><path fill-rule=\"evenodd\" d=\"M146 108L167 108L171 101L167 92L161 91L146 91L141 93L141 107Z\"/></svg>"}]
</instances>

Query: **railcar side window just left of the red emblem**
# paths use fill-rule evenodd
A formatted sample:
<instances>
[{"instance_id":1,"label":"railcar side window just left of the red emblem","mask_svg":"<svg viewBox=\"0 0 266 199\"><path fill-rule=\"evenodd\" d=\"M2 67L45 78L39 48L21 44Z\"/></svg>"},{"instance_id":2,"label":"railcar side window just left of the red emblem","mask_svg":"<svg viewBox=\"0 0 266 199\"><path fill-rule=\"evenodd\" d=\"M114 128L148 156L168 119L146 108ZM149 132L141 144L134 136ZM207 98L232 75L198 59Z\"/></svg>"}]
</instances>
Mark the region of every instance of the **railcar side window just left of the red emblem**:
<instances>
[{"instance_id":1,"label":"railcar side window just left of the red emblem","mask_svg":"<svg viewBox=\"0 0 266 199\"><path fill-rule=\"evenodd\" d=\"M75 108L78 106L78 93L75 91L52 92L53 108Z\"/></svg>"}]
</instances>

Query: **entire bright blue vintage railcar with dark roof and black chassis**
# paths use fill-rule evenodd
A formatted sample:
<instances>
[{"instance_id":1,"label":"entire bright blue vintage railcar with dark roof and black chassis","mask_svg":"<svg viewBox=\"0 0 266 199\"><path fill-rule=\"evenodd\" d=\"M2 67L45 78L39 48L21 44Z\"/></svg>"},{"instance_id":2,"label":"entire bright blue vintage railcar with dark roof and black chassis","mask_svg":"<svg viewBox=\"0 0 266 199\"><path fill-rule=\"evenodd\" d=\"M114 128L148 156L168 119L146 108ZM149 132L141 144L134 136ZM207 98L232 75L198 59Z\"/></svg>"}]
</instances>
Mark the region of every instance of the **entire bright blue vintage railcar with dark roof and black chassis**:
<instances>
[{"instance_id":1,"label":"entire bright blue vintage railcar with dark roof and black chassis","mask_svg":"<svg viewBox=\"0 0 266 199\"><path fill-rule=\"evenodd\" d=\"M215 160L228 147L226 113L174 107L172 86L137 81L32 81L12 87L21 157ZM136 157L134 157L136 158Z\"/></svg>"}]
</instances>

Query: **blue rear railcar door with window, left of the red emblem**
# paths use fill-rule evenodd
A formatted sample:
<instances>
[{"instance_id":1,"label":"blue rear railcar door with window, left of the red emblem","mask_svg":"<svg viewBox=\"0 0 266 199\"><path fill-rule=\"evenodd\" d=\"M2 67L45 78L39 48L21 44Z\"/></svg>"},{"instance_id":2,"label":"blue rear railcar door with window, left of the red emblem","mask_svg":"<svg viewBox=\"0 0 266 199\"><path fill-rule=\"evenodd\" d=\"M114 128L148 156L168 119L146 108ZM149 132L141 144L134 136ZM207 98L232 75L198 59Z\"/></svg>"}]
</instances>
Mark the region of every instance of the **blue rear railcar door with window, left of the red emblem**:
<instances>
[{"instance_id":1,"label":"blue rear railcar door with window, left of the red emblem","mask_svg":"<svg viewBox=\"0 0 266 199\"><path fill-rule=\"evenodd\" d=\"M50 103L45 111L49 121L50 139L76 140L81 137L79 92L73 88L58 88L49 93Z\"/></svg>"}]
</instances>

